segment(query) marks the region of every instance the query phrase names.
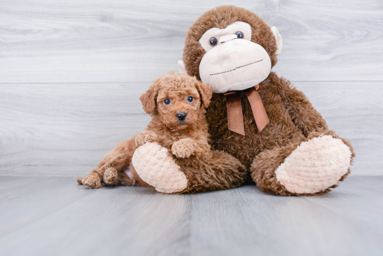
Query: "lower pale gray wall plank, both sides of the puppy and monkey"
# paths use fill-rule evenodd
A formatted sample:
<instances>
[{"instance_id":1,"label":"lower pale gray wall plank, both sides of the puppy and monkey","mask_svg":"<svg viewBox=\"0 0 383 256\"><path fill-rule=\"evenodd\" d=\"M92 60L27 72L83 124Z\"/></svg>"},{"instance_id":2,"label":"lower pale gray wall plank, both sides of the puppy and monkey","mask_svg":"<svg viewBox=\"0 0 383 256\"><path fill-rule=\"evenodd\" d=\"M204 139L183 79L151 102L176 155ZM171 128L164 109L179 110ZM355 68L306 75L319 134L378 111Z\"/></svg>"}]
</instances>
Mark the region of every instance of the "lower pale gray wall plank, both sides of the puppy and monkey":
<instances>
[{"instance_id":1,"label":"lower pale gray wall plank, both sides of the puppy and monkey","mask_svg":"<svg viewBox=\"0 0 383 256\"><path fill-rule=\"evenodd\" d=\"M118 141L150 117L139 101L150 83L0 84L0 176L76 176L90 172ZM295 82L351 140L352 175L383 175L382 82Z\"/></svg>"}]
</instances>

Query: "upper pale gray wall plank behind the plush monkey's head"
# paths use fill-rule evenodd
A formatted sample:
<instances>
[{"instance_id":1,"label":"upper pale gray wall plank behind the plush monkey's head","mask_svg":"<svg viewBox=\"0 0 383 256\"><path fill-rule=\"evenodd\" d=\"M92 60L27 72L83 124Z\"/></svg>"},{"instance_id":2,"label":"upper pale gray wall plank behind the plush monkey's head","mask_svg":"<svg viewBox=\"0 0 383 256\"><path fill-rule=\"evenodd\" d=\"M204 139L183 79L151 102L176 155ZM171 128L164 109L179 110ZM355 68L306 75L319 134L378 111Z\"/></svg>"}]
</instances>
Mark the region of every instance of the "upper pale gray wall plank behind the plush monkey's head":
<instances>
[{"instance_id":1,"label":"upper pale gray wall plank behind the plush monkey's head","mask_svg":"<svg viewBox=\"0 0 383 256\"><path fill-rule=\"evenodd\" d=\"M0 83L152 81L177 70L188 27L232 1L3 0ZM383 4L236 1L276 26L278 74L294 81L383 80Z\"/></svg>"}]
</instances>

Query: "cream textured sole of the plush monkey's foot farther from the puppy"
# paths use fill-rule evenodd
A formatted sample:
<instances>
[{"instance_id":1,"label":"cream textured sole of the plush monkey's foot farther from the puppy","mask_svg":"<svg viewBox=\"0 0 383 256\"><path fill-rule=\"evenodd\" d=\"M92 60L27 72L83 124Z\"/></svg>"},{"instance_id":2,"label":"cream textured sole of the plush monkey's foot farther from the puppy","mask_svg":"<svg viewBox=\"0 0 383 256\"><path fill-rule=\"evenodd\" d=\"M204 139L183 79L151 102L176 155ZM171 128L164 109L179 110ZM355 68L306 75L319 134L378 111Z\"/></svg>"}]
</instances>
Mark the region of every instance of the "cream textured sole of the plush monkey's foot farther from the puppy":
<instances>
[{"instance_id":1,"label":"cream textured sole of the plush monkey's foot farther from the puppy","mask_svg":"<svg viewBox=\"0 0 383 256\"><path fill-rule=\"evenodd\" d=\"M332 187L347 172L351 150L331 135L302 142L275 170L276 179L295 194L314 194Z\"/></svg>"}]
</instances>

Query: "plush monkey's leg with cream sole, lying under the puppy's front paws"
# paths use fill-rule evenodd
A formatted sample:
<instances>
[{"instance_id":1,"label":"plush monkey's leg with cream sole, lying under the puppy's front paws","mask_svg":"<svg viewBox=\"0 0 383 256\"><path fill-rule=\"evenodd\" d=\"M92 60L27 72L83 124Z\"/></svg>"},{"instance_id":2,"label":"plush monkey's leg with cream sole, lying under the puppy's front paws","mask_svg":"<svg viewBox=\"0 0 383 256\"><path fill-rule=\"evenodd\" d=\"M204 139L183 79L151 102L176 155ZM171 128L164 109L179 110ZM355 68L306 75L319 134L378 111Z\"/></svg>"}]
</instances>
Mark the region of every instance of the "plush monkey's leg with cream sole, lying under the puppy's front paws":
<instances>
[{"instance_id":1,"label":"plush monkey's leg with cream sole, lying under the puppy's front paws","mask_svg":"<svg viewBox=\"0 0 383 256\"><path fill-rule=\"evenodd\" d=\"M223 151L212 151L209 159L178 158L157 143L138 147L132 163L144 182L167 194L238 187L247 174L240 161Z\"/></svg>"}]
</instances>

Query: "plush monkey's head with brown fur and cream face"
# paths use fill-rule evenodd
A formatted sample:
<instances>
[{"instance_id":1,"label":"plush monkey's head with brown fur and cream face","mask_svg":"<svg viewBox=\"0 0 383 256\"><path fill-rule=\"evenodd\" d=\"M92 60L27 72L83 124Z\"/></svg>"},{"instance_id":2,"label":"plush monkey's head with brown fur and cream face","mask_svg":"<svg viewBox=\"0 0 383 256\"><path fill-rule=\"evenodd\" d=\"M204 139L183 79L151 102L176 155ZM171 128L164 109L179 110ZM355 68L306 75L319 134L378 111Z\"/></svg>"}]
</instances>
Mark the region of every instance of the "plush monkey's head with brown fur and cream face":
<instances>
[{"instance_id":1,"label":"plush monkey's head with brown fur and cream face","mask_svg":"<svg viewBox=\"0 0 383 256\"><path fill-rule=\"evenodd\" d=\"M214 93L240 91L265 80L281 50L282 37L275 27L243 8L221 6L201 15L190 27L184 69Z\"/></svg>"}]
</instances>

